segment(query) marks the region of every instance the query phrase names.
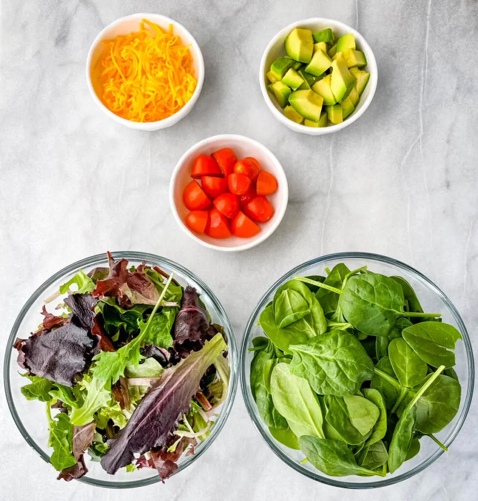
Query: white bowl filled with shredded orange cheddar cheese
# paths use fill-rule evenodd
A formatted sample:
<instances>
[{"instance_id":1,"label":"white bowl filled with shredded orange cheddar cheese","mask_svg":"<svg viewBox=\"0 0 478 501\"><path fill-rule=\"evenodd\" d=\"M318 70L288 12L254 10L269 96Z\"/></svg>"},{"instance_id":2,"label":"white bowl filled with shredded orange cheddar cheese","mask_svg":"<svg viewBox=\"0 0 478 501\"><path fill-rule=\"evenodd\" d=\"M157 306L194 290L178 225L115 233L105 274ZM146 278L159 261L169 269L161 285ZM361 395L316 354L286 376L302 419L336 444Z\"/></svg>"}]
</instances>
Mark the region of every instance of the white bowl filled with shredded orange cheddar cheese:
<instances>
[{"instance_id":1,"label":"white bowl filled with shredded orange cheddar cheese","mask_svg":"<svg viewBox=\"0 0 478 501\"><path fill-rule=\"evenodd\" d=\"M157 130L191 111L204 81L204 61L197 42L176 21L133 14L96 37L86 77L94 101L113 120Z\"/></svg>"}]
</instances>

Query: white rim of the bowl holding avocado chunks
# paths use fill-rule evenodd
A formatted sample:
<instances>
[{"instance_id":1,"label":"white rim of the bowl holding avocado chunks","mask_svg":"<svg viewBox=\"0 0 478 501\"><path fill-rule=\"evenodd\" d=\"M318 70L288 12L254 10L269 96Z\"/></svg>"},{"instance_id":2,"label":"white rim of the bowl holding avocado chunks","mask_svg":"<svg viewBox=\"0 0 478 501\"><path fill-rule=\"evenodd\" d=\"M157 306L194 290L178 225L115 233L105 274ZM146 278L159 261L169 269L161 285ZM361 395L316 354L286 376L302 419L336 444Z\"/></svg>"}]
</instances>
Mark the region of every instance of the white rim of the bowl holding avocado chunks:
<instances>
[{"instance_id":1,"label":"white rim of the bowl holding avocado chunks","mask_svg":"<svg viewBox=\"0 0 478 501\"><path fill-rule=\"evenodd\" d=\"M292 120L289 120L286 118L272 103L271 98L267 92L267 88L265 85L265 65L266 65L266 58L269 54L269 51L271 50L272 46L281 38L284 37L284 33L292 31L294 28L297 28L298 26L301 25L306 25L306 24L313 24L313 23L321 23L321 24L330 24L331 27L339 27L343 30L349 31L349 33L353 33L355 38L357 38L360 41L360 45L362 47L365 47L368 51L370 51L370 54L372 55L371 58L367 58L367 66L369 67L370 70L370 80L368 82L368 85L371 85L369 94L367 98L365 99L362 107L357 111L357 113L354 113L352 116L349 118L345 119L343 122L335 125L330 125L328 127L320 127L320 128L313 128L313 127L307 127L305 125L298 124L296 122L293 122ZM357 31L354 30L351 26L346 25L345 23L342 23L341 21L336 21L335 19L329 19L329 18L307 18L307 19L301 19L300 21L295 21L294 23L291 23L289 26L286 26L283 28L280 32L278 32L274 38L269 42L268 46L266 47L266 50L264 51L262 58L261 58L261 66L259 68L259 84L261 86L261 92L264 97L264 100L266 101L266 104L268 108L271 110L272 114L284 125L289 127L290 129L296 131L296 132L301 132L302 134L309 134L313 136L320 136L323 134L330 134L332 132L337 132L344 127L347 127L348 125L352 124L357 120L359 117L362 116L363 113L365 113L365 110L370 106L370 103L373 100L373 96L375 95L375 91L377 89L377 81L378 81L378 70L377 70L377 61L375 59L375 54L372 51L372 48L368 45L367 41L365 38Z\"/></svg>"}]
</instances>

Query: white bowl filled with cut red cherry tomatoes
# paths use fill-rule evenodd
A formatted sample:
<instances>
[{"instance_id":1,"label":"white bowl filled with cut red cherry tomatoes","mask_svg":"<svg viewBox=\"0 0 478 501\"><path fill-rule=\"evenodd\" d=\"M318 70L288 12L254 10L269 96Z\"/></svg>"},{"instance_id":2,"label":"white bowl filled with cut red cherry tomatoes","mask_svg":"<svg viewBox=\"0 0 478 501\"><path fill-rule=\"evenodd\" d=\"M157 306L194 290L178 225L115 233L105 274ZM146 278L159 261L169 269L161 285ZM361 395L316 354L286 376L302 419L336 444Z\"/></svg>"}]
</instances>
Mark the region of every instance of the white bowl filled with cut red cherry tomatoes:
<instances>
[{"instance_id":1,"label":"white bowl filled with cut red cherry tomatoes","mask_svg":"<svg viewBox=\"0 0 478 501\"><path fill-rule=\"evenodd\" d=\"M209 248L245 250L268 238L287 208L289 187L279 160L249 137L212 136L176 164L169 201L179 226Z\"/></svg>"}]
</instances>

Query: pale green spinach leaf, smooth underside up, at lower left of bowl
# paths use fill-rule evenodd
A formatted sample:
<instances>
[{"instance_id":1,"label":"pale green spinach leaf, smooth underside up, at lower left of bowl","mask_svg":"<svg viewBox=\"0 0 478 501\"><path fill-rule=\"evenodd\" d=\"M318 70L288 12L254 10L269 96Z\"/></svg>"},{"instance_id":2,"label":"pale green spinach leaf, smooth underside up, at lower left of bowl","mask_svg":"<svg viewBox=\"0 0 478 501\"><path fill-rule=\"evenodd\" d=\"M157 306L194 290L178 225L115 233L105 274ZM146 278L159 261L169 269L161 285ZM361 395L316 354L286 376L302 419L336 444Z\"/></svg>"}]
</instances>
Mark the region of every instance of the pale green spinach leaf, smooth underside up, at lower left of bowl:
<instances>
[{"instance_id":1,"label":"pale green spinach leaf, smooth underside up, at lower left of bowl","mask_svg":"<svg viewBox=\"0 0 478 501\"><path fill-rule=\"evenodd\" d=\"M292 432L300 437L313 435L324 438L322 411L310 384L291 373L289 364L274 367L271 377L272 399Z\"/></svg>"}]
</instances>

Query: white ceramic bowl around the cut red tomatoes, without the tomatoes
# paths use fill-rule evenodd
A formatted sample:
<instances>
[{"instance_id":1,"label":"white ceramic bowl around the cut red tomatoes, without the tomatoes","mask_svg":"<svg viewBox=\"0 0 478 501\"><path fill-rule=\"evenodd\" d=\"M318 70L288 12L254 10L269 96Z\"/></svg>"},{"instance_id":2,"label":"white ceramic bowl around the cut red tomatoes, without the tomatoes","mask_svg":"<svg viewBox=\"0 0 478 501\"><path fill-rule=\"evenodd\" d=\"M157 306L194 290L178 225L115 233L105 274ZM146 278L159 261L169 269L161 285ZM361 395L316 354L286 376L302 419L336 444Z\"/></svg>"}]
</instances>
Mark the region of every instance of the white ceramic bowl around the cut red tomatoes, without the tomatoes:
<instances>
[{"instance_id":1,"label":"white ceramic bowl around the cut red tomatoes, without the tomatoes","mask_svg":"<svg viewBox=\"0 0 478 501\"><path fill-rule=\"evenodd\" d=\"M269 221L259 223L261 231L250 238L238 238L237 236L224 239L211 238L205 234L192 232L184 223L184 219L189 211L182 201L182 192L184 187L191 181L192 163L198 155L210 155L221 148L231 148L238 160L248 156L257 158L262 169L270 172L277 179L277 190L268 196L269 201L274 207L274 215ZM169 183L169 203L179 226L201 245L215 250L224 250L225 252L249 249L271 236L284 217L288 200L289 186L287 184L286 173L279 160L263 144L249 137L234 134L208 137L189 148L174 167Z\"/></svg>"}]
</instances>

